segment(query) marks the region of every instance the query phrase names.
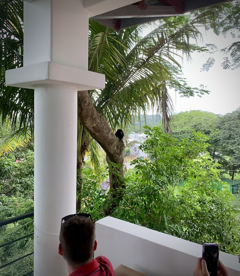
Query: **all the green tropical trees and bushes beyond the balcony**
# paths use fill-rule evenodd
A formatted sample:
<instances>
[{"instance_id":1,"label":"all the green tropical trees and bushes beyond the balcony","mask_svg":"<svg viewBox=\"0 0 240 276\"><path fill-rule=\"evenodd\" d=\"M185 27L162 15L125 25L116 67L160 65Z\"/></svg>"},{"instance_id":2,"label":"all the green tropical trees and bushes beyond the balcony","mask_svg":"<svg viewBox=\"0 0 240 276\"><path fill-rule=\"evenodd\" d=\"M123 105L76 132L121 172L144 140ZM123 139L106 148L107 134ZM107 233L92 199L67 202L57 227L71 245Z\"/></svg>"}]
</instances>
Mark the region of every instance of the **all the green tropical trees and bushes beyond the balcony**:
<instances>
[{"instance_id":1,"label":"all the green tropical trees and bushes beyond the balcony","mask_svg":"<svg viewBox=\"0 0 240 276\"><path fill-rule=\"evenodd\" d=\"M1 220L32 211L34 200L34 93L5 86L5 71L23 65L22 9L22 0L0 0ZM225 161L234 170L240 166L239 109L220 117L204 114L198 122L195 117L199 118L199 112L196 116L194 112L180 113L174 116L169 135L172 103L168 88L186 97L209 93L204 87L187 86L179 59L183 55L189 59L194 50L205 51L189 43L190 38L200 36L196 26L214 27L217 32L213 20L231 9L235 11L235 6L228 3L195 12L194 19L167 18L145 37L142 30L146 25L114 31L90 21L89 70L105 74L106 88L78 92L78 211L90 212L96 220L111 214L197 243L215 241L221 250L239 253L239 204L221 182L219 170L219 163L229 168ZM225 23L233 26L231 18L227 20ZM238 44L229 50L236 67ZM134 173L128 172L124 178L124 144L114 132L117 128L126 130L141 113L145 116L149 108L155 107L158 117L162 115L164 132L146 128L148 139L141 148L149 159L134 160ZM92 123L89 112L95 115L97 124ZM88 154L89 167L84 165ZM107 174L105 155L110 176L108 192L99 187ZM21 234L32 231L28 224L17 226L22 226ZM1 230L3 242L8 242L8 230ZM31 238L26 244L20 242L18 248L31 250ZM18 254L12 247L7 249L1 249L3 263L9 252ZM27 265L31 267L32 262ZM16 270L21 269L15 267L7 274Z\"/></svg>"}]
</instances>

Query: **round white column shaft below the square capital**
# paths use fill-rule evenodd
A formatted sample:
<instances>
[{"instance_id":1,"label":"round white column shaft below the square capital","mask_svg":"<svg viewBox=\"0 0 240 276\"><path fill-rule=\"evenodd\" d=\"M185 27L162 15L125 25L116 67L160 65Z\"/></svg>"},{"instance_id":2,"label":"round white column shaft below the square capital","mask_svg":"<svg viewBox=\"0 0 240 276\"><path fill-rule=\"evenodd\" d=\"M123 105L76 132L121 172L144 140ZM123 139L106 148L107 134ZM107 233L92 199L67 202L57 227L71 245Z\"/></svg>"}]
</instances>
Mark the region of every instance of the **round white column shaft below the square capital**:
<instances>
[{"instance_id":1,"label":"round white column shaft below the square capital","mask_svg":"<svg viewBox=\"0 0 240 276\"><path fill-rule=\"evenodd\" d=\"M34 114L34 275L63 276L61 218L76 209L77 88L37 85Z\"/></svg>"}]
</instances>

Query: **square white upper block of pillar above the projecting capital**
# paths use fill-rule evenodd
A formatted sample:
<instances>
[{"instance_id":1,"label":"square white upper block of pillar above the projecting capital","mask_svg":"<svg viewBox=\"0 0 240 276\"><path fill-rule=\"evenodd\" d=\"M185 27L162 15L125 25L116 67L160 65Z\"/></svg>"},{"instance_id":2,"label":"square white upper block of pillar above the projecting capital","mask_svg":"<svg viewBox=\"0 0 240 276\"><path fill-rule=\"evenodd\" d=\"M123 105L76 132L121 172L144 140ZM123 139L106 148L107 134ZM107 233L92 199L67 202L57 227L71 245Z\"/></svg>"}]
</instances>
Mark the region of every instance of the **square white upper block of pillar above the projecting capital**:
<instances>
[{"instance_id":1,"label":"square white upper block of pillar above the projecting capital","mask_svg":"<svg viewBox=\"0 0 240 276\"><path fill-rule=\"evenodd\" d=\"M52 61L88 70L83 0L24 1L24 66Z\"/></svg>"}]
</instances>

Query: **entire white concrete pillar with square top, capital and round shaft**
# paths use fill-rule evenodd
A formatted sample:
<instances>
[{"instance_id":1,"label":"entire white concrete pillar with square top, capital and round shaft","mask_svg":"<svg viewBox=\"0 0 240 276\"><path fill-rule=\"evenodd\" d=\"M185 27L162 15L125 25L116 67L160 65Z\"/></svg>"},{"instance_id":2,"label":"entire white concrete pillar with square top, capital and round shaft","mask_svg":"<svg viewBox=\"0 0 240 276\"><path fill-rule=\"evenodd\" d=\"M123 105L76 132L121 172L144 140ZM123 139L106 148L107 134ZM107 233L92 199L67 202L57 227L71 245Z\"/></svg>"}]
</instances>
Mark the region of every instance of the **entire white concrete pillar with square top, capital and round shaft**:
<instances>
[{"instance_id":1,"label":"entire white concrete pillar with square top, capital and round shaft","mask_svg":"<svg viewBox=\"0 0 240 276\"><path fill-rule=\"evenodd\" d=\"M88 71L83 0L24 2L23 67L6 85L34 92L34 276L66 276L58 255L61 218L76 210L77 91L105 87Z\"/></svg>"}]
</instances>

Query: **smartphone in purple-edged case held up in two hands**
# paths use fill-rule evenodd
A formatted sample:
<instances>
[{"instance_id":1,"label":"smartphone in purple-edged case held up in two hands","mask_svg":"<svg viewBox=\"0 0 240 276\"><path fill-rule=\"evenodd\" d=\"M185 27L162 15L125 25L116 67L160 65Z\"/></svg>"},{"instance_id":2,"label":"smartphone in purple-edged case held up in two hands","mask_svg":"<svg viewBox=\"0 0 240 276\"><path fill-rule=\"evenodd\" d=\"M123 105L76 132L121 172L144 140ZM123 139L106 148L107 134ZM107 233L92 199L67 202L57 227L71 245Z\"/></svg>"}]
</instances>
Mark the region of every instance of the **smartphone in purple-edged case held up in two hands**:
<instances>
[{"instance_id":1,"label":"smartphone in purple-edged case held up in two hands","mask_svg":"<svg viewBox=\"0 0 240 276\"><path fill-rule=\"evenodd\" d=\"M219 244L218 243L204 243L202 259L206 261L207 270L210 276L218 275L218 257Z\"/></svg>"}]
</instances>

